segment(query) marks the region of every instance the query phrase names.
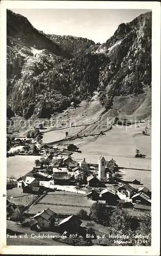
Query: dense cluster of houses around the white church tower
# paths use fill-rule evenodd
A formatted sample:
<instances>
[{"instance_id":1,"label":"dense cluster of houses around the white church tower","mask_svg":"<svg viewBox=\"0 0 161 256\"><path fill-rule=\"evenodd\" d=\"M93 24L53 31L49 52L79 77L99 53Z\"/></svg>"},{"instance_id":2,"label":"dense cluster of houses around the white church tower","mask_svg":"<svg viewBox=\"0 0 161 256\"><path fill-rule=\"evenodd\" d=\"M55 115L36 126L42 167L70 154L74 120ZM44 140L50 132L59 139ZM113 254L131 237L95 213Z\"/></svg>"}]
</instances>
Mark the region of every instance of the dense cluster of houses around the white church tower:
<instances>
[{"instance_id":1,"label":"dense cluster of houses around the white church tower","mask_svg":"<svg viewBox=\"0 0 161 256\"><path fill-rule=\"evenodd\" d=\"M44 145L44 147L46 146ZM50 155L52 157L49 157ZM68 150L60 151L55 148L50 155L46 159L38 160L41 163L39 166L37 161L36 167L31 172L17 180L17 187L23 188L24 193L42 194L46 190L54 190L57 185L77 185L79 183L79 185L87 185L89 189L91 188L87 197L95 201L101 200L108 205L129 204L134 209L139 209L141 205L151 206L150 190L146 187L136 189L129 184L139 185L140 182L136 179L128 183L117 178L117 188L106 185L118 170L114 159L106 161L103 156L100 156L96 174L85 158L73 160L72 153ZM144 206L141 206L140 209L143 209Z\"/></svg>"}]
</instances>

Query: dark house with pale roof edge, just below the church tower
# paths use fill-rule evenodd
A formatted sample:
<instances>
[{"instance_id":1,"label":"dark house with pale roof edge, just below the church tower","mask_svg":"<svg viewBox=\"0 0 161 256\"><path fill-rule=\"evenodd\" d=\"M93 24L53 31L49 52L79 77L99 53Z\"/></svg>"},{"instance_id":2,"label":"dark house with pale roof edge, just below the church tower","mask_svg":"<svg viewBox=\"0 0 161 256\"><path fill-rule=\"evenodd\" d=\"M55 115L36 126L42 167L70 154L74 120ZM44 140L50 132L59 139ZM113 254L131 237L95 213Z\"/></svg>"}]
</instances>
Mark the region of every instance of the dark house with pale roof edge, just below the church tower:
<instances>
[{"instance_id":1,"label":"dark house with pale roof edge, just below the church tower","mask_svg":"<svg viewBox=\"0 0 161 256\"><path fill-rule=\"evenodd\" d=\"M99 198L100 200L105 200L108 205L117 205L118 200L120 199L116 194L116 191L110 188L102 190Z\"/></svg>"}]
</instances>

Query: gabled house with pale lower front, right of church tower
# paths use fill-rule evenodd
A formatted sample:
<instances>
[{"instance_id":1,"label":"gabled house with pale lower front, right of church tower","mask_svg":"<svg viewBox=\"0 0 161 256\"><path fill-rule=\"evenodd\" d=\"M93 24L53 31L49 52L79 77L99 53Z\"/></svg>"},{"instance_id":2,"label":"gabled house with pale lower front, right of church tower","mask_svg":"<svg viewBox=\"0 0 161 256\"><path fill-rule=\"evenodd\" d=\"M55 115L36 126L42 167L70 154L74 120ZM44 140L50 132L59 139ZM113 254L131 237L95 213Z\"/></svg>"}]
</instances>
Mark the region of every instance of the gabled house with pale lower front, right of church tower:
<instances>
[{"instance_id":1,"label":"gabled house with pale lower front, right of church tower","mask_svg":"<svg viewBox=\"0 0 161 256\"><path fill-rule=\"evenodd\" d=\"M130 186L128 183L125 185L122 185L117 189L117 195L120 199L124 200L126 198L131 198L133 194L135 193L135 188Z\"/></svg>"}]
</instances>

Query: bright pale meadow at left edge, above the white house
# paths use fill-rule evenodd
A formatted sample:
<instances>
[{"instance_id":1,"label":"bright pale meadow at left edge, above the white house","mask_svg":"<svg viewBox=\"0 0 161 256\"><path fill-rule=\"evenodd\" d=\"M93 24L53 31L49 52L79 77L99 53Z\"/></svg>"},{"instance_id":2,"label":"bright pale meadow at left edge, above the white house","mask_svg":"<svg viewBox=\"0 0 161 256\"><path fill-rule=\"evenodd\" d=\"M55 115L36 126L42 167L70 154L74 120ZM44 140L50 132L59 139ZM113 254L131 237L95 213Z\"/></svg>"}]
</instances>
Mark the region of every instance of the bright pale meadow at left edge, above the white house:
<instances>
[{"instance_id":1,"label":"bright pale meadow at left edge, above the white house","mask_svg":"<svg viewBox=\"0 0 161 256\"><path fill-rule=\"evenodd\" d=\"M35 160L41 156L14 156L7 158L7 177L14 176L18 179L20 176L30 172L35 166Z\"/></svg>"}]
</instances>

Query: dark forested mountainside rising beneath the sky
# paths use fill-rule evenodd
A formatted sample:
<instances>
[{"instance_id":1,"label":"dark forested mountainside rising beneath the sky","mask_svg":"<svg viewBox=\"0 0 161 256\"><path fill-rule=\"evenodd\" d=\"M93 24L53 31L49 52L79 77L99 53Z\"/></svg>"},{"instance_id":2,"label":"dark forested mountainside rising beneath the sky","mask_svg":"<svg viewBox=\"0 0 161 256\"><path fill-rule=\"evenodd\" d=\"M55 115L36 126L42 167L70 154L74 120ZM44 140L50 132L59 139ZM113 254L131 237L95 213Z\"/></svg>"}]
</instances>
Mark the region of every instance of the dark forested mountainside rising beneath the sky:
<instances>
[{"instance_id":1,"label":"dark forested mountainside rising beneath the sky","mask_svg":"<svg viewBox=\"0 0 161 256\"><path fill-rule=\"evenodd\" d=\"M108 111L114 96L151 86L151 12L121 24L104 44L46 35L7 11L8 115L49 117L98 91ZM12 109L12 111L11 111Z\"/></svg>"}]
</instances>

